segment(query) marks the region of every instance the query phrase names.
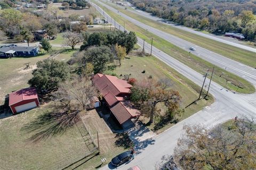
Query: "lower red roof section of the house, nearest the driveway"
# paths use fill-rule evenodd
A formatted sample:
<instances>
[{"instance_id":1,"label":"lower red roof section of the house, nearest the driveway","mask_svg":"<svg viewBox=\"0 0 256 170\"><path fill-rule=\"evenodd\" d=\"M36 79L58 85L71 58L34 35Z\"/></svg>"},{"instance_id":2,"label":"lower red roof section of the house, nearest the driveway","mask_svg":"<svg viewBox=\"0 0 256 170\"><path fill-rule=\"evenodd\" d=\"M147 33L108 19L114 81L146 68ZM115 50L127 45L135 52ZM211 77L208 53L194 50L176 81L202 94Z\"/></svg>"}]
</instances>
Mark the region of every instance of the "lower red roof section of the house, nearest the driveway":
<instances>
[{"instance_id":1,"label":"lower red roof section of the house, nearest the driveway","mask_svg":"<svg viewBox=\"0 0 256 170\"><path fill-rule=\"evenodd\" d=\"M120 124L123 124L132 117L140 115L140 111L133 108L130 101L120 101L115 106L111 107L110 111L115 115Z\"/></svg>"}]
</instances>

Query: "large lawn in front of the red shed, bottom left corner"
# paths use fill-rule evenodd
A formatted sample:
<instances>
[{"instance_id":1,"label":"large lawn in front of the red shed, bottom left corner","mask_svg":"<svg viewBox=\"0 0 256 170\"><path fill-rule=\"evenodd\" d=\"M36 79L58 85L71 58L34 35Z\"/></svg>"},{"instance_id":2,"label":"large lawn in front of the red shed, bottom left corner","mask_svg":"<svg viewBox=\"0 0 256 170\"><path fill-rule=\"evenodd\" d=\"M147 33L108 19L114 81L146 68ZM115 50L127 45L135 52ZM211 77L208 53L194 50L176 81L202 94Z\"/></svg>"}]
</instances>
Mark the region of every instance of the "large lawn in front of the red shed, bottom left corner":
<instances>
[{"instance_id":1,"label":"large lawn in front of the red shed, bottom left corner","mask_svg":"<svg viewBox=\"0 0 256 170\"><path fill-rule=\"evenodd\" d=\"M82 122L55 126L58 121L45 116L49 105L0 120L0 169L62 169L95 147L82 137L87 134Z\"/></svg>"}]
</instances>

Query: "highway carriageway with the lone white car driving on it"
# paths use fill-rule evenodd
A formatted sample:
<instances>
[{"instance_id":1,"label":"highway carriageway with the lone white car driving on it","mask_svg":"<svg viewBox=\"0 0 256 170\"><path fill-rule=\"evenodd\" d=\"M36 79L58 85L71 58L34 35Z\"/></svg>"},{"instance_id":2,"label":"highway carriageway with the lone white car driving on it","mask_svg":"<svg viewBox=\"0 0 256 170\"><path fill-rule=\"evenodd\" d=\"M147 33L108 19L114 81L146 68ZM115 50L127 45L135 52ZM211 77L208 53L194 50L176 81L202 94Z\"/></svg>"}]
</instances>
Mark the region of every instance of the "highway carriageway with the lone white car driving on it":
<instances>
[{"instance_id":1,"label":"highway carriageway with the lone white car driving on it","mask_svg":"<svg viewBox=\"0 0 256 170\"><path fill-rule=\"evenodd\" d=\"M169 33L166 33L166 32L160 31L156 28L150 27L147 24L141 23L141 22L131 18L130 16L123 14L122 12L119 12L114 7L111 7L105 3L102 3L100 1L97 1L97 3L108 8L110 11L113 11L114 13L122 16L124 19L129 20L130 22L141 27L142 29L145 29L145 30L153 33L154 35L156 35L166 41L169 41L169 43L174 44L174 45L182 48L183 50L186 50L187 52L191 52L192 54L202 58L203 60L205 60L207 62L217 65L217 66L221 67L222 69L226 68L227 71L238 75L239 77L251 82L252 84L256 84L256 68L239 63L239 62L232 60L228 57L211 52L208 49L199 47L199 46L192 44L186 40L183 40L181 38L170 35ZM108 18L108 19L110 19L110 18ZM114 23L114 20L113 20L113 23ZM190 51L189 47L195 47L196 50ZM255 56L256 56L256 53L255 53Z\"/></svg>"}]
</instances>

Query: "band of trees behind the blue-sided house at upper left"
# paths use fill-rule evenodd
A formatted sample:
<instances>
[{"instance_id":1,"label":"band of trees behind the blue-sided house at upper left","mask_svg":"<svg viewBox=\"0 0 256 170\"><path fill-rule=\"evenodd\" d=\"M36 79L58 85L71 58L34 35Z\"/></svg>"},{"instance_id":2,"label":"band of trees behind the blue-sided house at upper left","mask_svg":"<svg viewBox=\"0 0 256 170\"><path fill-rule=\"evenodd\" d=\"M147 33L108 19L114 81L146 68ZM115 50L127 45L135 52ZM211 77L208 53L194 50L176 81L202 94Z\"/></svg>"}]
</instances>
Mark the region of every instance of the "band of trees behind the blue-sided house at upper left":
<instances>
[{"instance_id":1,"label":"band of trees behind the blue-sided house at upper left","mask_svg":"<svg viewBox=\"0 0 256 170\"><path fill-rule=\"evenodd\" d=\"M61 16L58 7L49 6L41 12L33 12L28 9L14 10L7 8L0 14L0 35L2 39L14 38L18 41L26 40L29 42L37 41L36 31L45 30L49 39L55 37L59 32L76 32L86 31L87 24L92 24L95 14L90 13L83 18L77 14L71 14L67 18ZM78 21L72 23L72 21Z\"/></svg>"}]
</instances>

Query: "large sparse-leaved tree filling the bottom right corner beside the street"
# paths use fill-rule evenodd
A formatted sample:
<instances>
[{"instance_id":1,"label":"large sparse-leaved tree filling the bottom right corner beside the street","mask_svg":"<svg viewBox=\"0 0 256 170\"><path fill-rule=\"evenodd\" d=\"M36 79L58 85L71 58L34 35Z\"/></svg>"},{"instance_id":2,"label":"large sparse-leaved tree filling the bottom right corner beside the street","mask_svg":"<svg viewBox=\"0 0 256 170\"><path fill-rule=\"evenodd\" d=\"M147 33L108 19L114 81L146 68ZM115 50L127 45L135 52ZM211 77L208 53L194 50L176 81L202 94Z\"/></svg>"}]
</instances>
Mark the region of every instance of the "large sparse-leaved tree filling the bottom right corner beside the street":
<instances>
[{"instance_id":1,"label":"large sparse-leaved tree filling the bottom right corner beside the street","mask_svg":"<svg viewBox=\"0 0 256 170\"><path fill-rule=\"evenodd\" d=\"M174 149L183 169L255 169L256 124L253 118L235 119L212 130L185 126Z\"/></svg>"}]
</instances>

